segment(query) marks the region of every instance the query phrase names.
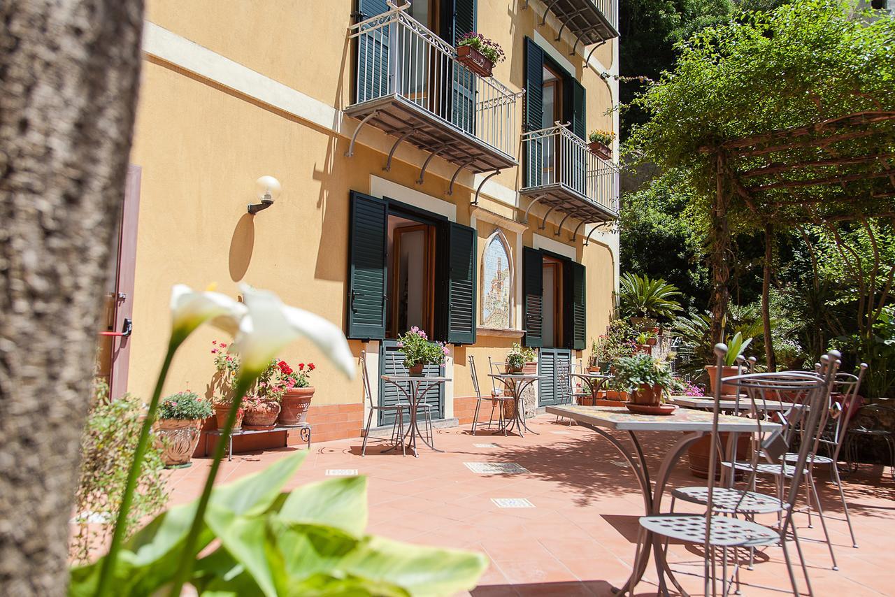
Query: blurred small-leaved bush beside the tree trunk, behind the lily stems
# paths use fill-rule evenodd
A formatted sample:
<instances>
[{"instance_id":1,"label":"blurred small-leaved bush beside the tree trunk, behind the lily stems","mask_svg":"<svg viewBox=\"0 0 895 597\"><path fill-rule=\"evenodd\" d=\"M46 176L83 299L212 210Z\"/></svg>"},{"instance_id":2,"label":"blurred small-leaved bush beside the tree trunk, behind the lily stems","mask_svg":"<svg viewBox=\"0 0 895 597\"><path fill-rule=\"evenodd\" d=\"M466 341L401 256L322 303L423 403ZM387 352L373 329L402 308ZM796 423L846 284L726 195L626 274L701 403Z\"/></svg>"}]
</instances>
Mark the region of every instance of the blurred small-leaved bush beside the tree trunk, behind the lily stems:
<instances>
[{"instance_id":1,"label":"blurred small-leaved bush beside the tree trunk, behind the lily stems","mask_svg":"<svg viewBox=\"0 0 895 597\"><path fill-rule=\"evenodd\" d=\"M140 436L143 405L130 395L108 397L97 382L87 425L81 436L81 472L75 493L75 516L69 553L83 563L91 551L107 544L124 495L127 474ZM167 501L160 450L150 446L137 481L125 533L145 516L157 514Z\"/></svg>"}]
</instances>

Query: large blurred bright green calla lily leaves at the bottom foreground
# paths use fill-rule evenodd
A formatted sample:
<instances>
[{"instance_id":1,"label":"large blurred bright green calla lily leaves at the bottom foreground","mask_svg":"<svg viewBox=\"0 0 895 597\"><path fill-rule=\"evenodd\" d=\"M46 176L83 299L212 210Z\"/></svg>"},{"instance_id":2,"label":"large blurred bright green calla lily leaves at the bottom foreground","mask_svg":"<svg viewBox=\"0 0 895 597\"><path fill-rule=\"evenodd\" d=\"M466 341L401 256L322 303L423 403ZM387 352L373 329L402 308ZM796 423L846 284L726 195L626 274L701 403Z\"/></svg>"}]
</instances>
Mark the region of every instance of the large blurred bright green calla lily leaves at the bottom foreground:
<instances>
[{"instance_id":1,"label":"large blurred bright green calla lily leaves at the bottom foreground","mask_svg":"<svg viewBox=\"0 0 895 597\"><path fill-rule=\"evenodd\" d=\"M307 452L216 487L190 582L200 595L450 595L475 585L481 554L393 542L363 533L366 479L347 477L281 490ZM169 584L196 502L156 517L124 545L115 563L119 594L150 594ZM72 569L69 594L93 593L102 560Z\"/></svg>"}]
</instances>

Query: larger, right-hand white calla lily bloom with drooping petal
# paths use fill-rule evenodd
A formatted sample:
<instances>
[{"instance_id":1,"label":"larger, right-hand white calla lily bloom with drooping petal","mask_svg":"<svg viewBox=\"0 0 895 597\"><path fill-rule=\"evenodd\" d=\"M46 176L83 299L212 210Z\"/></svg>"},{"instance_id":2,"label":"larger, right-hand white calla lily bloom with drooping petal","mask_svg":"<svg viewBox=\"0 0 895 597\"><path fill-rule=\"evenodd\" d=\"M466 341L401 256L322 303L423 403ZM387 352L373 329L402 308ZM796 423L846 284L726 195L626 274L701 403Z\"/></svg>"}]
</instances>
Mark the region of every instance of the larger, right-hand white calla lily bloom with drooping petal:
<instances>
[{"instance_id":1,"label":"larger, right-hand white calla lily bloom with drooping petal","mask_svg":"<svg viewBox=\"0 0 895 597\"><path fill-rule=\"evenodd\" d=\"M239 354L243 378L257 377L270 359L300 337L311 340L348 378L354 378L354 356L345 334L335 324L285 305L271 292L245 285L241 288L248 311L239 322L232 348Z\"/></svg>"}]
</instances>

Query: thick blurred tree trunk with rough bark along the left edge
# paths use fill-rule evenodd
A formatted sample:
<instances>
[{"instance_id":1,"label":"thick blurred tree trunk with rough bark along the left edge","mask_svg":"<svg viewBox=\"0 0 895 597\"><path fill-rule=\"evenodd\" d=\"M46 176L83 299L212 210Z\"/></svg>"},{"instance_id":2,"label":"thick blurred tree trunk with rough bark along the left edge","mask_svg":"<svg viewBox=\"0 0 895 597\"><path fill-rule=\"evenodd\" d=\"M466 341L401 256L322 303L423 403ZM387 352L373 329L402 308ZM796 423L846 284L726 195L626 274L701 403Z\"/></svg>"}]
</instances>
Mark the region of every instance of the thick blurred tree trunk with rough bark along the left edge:
<instances>
[{"instance_id":1,"label":"thick blurred tree trunk with rough bark along the left edge","mask_svg":"<svg viewBox=\"0 0 895 597\"><path fill-rule=\"evenodd\" d=\"M0 587L63 595L142 0L4 0L0 22Z\"/></svg>"}]
</instances>

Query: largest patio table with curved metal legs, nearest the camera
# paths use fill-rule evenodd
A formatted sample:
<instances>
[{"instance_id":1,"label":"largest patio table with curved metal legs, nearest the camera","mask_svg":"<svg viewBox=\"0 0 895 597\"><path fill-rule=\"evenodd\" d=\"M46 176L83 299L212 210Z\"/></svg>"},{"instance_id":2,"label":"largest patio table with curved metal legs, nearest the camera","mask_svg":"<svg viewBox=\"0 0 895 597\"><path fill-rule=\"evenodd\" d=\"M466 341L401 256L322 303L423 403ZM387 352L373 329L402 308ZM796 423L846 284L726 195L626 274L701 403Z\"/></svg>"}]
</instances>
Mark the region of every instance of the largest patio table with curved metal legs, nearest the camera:
<instances>
[{"instance_id":1,"label":"largest patio table with curved metal legs, nearest the camera","mask_svg":"<svg viewBox=\"0 0 895 597\"><path fill-rule=\"evenodd\" d=\"M680 455L686 450L687 446L697 439L712 433L712 413L689 408L678 408L673 414L656 415L634 414L626 408L617 406L567 405L548 406L547 412L572 419L577 424L595 431L609 441L624 456L628 465L631 465L631 469L637 478L637 483L640 485L640 490L644 497L644 514L646 516L661 514L662 493L665 490L674 465L677 464ZM718 431L753 433L760 430L773 431L776 428L780 428L778 423L758 422L747 417L729 414L720 414L718 417ZM627 448L625 444L607 430L626 431L634 450ZM644 458L644 450L640 447L640 442L636 436L638 432L646 431L686 432L686 435L678 439L662 459L655 482L651 482L650 472ZM620 589L613 588L613 591L617 593L630 592L640 582L649 563L650 550L647 546L651 544L661 593L668 593L665 587L665 576L667 575L678 591L686 595L686 591L683 590L678 580L671 573L668 562L665 560L664 550L661 548L661 542L650 531L646 531L643 554L639 553L639 545L637 546L638 549L635 550L634 561L640 562L639 569L633 570L626 583Z\"/></svg>"}]
</instances>

